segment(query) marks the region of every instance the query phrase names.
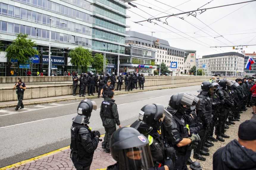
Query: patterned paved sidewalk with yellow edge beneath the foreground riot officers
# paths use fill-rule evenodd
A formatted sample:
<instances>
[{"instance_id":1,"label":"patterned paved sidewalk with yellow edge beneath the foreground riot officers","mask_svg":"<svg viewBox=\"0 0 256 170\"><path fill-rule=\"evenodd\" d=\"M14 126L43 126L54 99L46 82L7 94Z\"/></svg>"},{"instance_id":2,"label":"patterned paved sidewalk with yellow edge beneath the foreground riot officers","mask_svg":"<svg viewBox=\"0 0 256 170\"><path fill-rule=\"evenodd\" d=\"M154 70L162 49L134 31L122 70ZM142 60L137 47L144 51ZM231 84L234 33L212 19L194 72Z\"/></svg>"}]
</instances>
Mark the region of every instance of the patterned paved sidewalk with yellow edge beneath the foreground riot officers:
<instances>
[{"instance_id":1,"label":"patterned paved sidewalk with yellow edge beneath the foreground riot officers","mask_svg":"<svg viewBox=\"0 0 256 170\"><path fill-rule=\"evenodd\" d=\"M206 161L199 161L203 170L212 170L212 156L213 153L220 147L224 147L228 142L233 139L237 139L238 127L245 120L253 119L252 108L248 108L246 112L241 114L241 119L239 122L235 122L235 125L231 125L227 129L227 135L230 135L229 139L225 139L225 142L214 142L214 146L210 147L210 156L206 156ZM215 136L216 137L216 136ZM102 139L103 137L101 137ZM91 164L90 170L104 170L109 165L113 165L115 160L112 158L110 153L104 152L101 148L101 143L99 142L98 148L95 150L93 155L93 162ZM193 156L191 157L193 161ZM198 160L197 160L198 161ZM39 155L35 158L31 158L25 161L21 161L10 166L0 168L0 170L76 170L70 159L70 149L64 147L43 155Z\"/></svg>"}]
</instances>

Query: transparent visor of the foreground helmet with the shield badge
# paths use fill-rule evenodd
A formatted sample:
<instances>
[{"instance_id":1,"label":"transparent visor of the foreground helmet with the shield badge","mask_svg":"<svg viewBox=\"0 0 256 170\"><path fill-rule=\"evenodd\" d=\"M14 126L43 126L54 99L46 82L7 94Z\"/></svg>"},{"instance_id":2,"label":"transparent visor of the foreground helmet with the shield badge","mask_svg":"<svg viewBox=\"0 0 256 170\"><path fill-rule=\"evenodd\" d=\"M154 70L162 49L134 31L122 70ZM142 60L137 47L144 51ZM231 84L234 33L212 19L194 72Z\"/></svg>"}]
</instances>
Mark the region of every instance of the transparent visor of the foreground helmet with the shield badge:
<instances>
[{"instance_id":1,"label":"transparent visor of the foreground helmet with the shield badge","mask_svg":"<svg viewBox=\"0 0 256 170\"><path fill-rule=\"evenodd\" d=\"M124 149L120 152L119 169L148 170L154 166L148 144Z\"/></svg>"}]
</instances>

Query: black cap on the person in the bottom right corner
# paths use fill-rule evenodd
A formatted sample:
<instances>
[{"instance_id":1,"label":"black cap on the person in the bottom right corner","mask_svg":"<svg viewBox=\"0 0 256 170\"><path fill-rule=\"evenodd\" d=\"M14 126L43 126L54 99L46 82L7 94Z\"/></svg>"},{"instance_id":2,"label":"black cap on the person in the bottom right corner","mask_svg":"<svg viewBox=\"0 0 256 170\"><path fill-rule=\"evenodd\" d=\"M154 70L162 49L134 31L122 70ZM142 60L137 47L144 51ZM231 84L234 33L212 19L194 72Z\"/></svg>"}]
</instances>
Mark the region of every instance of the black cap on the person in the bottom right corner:
<instances>
[{"instance_id":1,"label":"black cap on the person in the bottom right corner","mask_svg":"<svg viewBox=\"0 0 256 170\"><path fill-rule=\"evenodd\" d=\"M246 141L256 140L256 121L246 120L241 123L238 128L238 137Z\"/></svg>"}]
</instances>

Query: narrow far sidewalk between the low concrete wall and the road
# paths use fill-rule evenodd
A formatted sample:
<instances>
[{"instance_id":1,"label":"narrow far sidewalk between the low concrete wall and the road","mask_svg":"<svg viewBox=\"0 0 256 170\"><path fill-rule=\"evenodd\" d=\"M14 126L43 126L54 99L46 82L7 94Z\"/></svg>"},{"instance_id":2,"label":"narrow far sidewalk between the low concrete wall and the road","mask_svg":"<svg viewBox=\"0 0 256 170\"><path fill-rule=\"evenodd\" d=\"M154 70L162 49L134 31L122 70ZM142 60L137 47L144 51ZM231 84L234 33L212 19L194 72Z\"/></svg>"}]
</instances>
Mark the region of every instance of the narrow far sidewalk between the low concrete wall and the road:
<instances>
[{"instance_id":1,"label":"narrow far sidewalk between the low concrete wall and the road","mask_svg":"<svg viewBox=\"0 0 256 170\"><path fill-rule=\"evenodd\" d=\"M133 91L125 91L124 89L121 89L121 91L115 91L115 95L120 94L127 94L127 93L138 93L142 91L149 91L149 90L161 90L161 89L168 89L168 88L178 88L178 87L186 87L186 86L192 86L192 85L200 85L201 82L193 82L193 83L180 83L180 84L170 84L170 85L160 85L160 86L149 86L144 87L144 90L134 89ZM26 93L26 91L25 91ZM95 96L88 96L86 94L85 97L79 97L73 96L73 95L66 95L66 96L56 96L56 97L46 97L46 98L35 98L35 99L27 99L23 100L24 106L28 105L37 105L37 104L46 104L46 103L56 103L56 102L62 102L62 101L71 101L71 100L82 100L84 98L98 98L98 93L94 93ZM15 107L17 105L18 101L4 101L0 102L0 109L4 108L10 108Z\"/></svg>"}]
</instances>

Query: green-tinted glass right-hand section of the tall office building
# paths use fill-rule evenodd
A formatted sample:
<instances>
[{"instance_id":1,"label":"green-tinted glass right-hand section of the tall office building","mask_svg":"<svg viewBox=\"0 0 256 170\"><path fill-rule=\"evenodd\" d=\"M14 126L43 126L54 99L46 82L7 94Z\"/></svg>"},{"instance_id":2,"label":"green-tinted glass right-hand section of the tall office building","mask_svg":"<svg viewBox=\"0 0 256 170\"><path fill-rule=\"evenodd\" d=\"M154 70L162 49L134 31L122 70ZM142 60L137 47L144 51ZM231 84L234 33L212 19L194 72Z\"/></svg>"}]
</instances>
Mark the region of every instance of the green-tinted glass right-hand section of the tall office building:
<instances>
[{"instance_id":1,"label":"green-tinted glass right-hand section of the tall office building","mask_svg":"<svg viewBox=\"0 0 256 170\"><path fill-rule=\"evenodd\" d=\"M130 8L123 0L94 0L93 1L93 53L106 53L108 65L106 72L117 72L118 45L119 54L127 56L124 51L126 9Z\"/></svg>"}]
</instances>

